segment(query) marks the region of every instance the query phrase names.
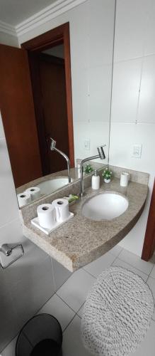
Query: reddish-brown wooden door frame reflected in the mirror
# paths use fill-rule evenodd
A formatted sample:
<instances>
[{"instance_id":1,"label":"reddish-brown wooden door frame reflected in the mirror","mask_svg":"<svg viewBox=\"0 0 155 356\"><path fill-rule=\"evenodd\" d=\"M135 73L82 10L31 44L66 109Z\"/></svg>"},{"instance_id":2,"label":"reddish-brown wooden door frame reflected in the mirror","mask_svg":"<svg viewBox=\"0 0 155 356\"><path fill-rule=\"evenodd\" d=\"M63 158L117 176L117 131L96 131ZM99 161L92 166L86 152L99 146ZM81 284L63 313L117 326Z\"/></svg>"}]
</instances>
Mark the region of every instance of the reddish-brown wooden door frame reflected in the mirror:
<instances>
[{"instance_id":1,"label":"reddish-brown wooden door frame reflected in the mirror","mask_svg":"<svg viewBox=\"0 0 155 356\"><path fill-rule=\"evenodd\" d=\"M67 92L67 120L69 133L69 159L71 167L74 167L74 132L72 114L72 95L71 95L71 57L70 57L70 37L69 22L53 28L42 35L32 38L21 44L21 47L30 53L38 53L64 43L64 67Z\"/></svg>"}]
</instances>

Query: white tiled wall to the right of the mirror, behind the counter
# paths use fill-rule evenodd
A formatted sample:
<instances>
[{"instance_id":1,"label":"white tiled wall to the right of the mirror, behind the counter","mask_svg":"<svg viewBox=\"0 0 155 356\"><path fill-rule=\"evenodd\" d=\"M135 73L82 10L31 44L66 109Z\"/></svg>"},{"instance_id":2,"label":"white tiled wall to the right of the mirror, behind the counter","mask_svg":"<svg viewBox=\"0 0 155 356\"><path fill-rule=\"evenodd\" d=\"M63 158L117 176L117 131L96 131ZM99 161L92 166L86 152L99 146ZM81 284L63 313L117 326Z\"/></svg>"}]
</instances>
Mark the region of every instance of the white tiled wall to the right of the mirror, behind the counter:
<instances>
[{"instance_id":1,"label":"white tiled wall to the right of the mirror, behind the counter","mask_svg":"<svg viewBox=\"0 0 155 356\"><path fill-rule=\"evenodd\" d=\"M155 175L155 2L117 0L110 164L149 172L147 206L120 245L141 256ZM142 144L142 158L132 157Z\"/></svg>"}]
</instances>

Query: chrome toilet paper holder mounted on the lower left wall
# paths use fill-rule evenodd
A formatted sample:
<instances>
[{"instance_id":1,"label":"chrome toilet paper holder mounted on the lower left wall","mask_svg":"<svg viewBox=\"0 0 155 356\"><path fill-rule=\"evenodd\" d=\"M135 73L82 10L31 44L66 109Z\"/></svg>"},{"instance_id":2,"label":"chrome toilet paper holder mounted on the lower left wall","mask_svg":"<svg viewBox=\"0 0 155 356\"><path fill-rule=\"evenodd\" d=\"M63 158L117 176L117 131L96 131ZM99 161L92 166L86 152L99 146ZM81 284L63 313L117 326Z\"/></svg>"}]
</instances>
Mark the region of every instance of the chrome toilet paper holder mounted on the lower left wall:
<instances>
[{"instance_id":1,"label":"chrome toilet paper holder mounted on the lower left wall","mask_svg":"<svg viewBox=\"0 0 155 356\"><path fill-rule=\"evenodd\" d=\"M0 262L0 268L5 269L8 266L10 266L12 263L16 262L19 258L21 258L24 254L24 250L23 250L23 246L21 244L18 245L13 245L13 244L3 244L0 246L0 252L4 253L4 255L6 257L11 256L13 250L15 250L16 248L20 248L21 249L21 253L19 254L19 256L16 256L15 258L13 258L13 260L9 263L7 263L5 266Z\"/></svg>"}]
</instances>

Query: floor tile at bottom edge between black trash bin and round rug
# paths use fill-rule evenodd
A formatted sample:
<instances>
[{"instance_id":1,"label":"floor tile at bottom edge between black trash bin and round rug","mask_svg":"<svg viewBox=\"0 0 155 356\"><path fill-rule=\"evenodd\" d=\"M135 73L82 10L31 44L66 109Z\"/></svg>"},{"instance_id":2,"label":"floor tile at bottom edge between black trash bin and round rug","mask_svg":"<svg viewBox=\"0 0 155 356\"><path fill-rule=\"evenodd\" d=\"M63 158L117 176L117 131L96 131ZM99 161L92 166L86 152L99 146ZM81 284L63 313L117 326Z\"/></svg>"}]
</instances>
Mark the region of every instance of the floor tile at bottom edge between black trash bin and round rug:
<instances>
[{"instance_id":1,"label":"floor tile at bottom edge between black trash bin and round rug","mask_svg":"<svg viewBox=\"0 0 155 356\"><path fill-rule=\"evenodd\" d=\"M64 331L62 344L63 356L92 356L84 347L81 340L81 319L75 316L68 328Z\"/></svg>"}]
</instances>

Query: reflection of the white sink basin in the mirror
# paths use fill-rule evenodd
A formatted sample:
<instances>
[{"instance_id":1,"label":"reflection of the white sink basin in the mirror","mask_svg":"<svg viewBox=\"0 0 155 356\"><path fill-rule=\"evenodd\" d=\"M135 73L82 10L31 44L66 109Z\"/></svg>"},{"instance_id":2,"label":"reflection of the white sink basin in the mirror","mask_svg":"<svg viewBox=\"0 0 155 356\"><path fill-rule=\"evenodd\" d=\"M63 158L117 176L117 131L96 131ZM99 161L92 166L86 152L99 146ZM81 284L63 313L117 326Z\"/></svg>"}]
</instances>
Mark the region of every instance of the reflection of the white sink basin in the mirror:
<instances>
[{"instance_id":1,"label":"reflection of the white sink basin in the mirror","mask_svg":"<svg viewBox=\"0 0 155 356\"><path fill-rule=\"evenodd\" d=\"M71 182L73 182L73 179L71 179ZM69 179L68 177L55 177L53 179L46 180L45 182L42 182L38 184L37 187L40 188L41 194L50 194L54 192L55 190L64 187L64 185L69 184Z\"/></svg>"}]
</instances>

